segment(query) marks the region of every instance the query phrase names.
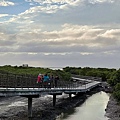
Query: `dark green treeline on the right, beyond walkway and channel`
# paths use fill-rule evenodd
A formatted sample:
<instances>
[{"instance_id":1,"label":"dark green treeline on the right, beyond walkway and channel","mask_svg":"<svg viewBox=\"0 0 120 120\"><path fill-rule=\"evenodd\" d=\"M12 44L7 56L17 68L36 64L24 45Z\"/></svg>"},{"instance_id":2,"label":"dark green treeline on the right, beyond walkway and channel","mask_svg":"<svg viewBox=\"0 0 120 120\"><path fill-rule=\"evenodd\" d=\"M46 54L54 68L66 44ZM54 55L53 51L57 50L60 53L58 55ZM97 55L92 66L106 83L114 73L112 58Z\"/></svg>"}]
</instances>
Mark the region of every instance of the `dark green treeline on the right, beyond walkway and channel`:
<instances>
[{"instance_id":1,"label":"dark green treeline on the right, beyond walkway and channel","mask_svg":"<svg viewBox=\"0 0 120 120\"><path fill-rule=\"evenodd\" d=\"M102 81L106 81L113 88L113 95L120 101L120 69L109 68L90 68L90 67L66 67L65 72L75 75L101 77Z\"/></svg>"}]
</instances>

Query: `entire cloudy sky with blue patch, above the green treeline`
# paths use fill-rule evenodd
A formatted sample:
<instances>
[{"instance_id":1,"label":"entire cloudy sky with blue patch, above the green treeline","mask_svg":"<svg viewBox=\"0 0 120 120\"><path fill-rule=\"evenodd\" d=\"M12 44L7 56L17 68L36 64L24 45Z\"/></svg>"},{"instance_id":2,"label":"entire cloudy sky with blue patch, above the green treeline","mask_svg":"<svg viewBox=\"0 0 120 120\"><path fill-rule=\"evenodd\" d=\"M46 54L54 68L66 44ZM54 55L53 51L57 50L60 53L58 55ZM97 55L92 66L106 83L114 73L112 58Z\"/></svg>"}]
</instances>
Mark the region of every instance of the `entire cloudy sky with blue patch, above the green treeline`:
<instances>
[{"instance_id":1,"label":"entire cloudy sky with blue patch, above the green treeline","mask_svg":"<svg viewBox=\"0 0 120 120\"><path fill-rule=\"evenodd\" d=\"M120 0L0 0L0 66L120 67Z\"/></svg>"}]
</instances>

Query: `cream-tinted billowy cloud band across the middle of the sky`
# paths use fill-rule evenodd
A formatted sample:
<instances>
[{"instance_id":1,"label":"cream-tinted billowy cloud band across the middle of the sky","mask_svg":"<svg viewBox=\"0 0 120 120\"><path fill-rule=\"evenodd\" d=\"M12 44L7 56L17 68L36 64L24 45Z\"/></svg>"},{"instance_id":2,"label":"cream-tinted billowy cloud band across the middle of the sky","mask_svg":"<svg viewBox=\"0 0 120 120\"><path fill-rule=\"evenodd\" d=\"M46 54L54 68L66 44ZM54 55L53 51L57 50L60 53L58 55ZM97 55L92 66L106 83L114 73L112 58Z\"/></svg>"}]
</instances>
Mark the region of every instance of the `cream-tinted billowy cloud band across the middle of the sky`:
<instances>
[{"instance_id":1,"label":"cream-tinted billowy cloud band across the middle of the sky","mask_svg":"<svg viewBox=\"0 0 120 120\"><path fill-rule=\"evenodd\" d=\"M37 26L36 26L37 27ZM34 32L35 31L35 32ZM97 53L119 50L120 29L64 24L61 30L0 34L2 52ZM112 37L111 37L112 36ZM4 48L4 49L3 49ZM11 50L11 51L10 51Z\"/></svg>"}]
</instances>

